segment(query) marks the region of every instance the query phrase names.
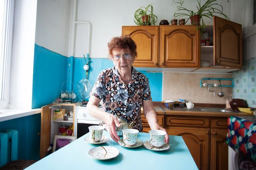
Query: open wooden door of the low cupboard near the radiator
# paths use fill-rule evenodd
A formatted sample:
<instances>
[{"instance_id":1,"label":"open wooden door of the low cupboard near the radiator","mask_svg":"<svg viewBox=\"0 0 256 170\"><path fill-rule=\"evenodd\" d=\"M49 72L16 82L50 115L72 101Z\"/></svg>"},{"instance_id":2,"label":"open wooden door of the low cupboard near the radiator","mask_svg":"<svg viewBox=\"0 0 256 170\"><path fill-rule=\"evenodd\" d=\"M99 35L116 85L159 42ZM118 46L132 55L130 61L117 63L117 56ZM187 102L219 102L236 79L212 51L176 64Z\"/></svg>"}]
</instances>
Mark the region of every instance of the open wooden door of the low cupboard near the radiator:
<instances>
[{"instance_id":1,"label":"open wooden door of the low cupboard near the radiator","mask_svg":"<svg viewBox=\"0 0 256 170\"><path fill-rule=\"evenodd\" d=\"M44 158L50 146L50 132L51 132L51 105L47 105L41 108L41 136L40 136L40 159Z\"/></svg>"}]
</instances>

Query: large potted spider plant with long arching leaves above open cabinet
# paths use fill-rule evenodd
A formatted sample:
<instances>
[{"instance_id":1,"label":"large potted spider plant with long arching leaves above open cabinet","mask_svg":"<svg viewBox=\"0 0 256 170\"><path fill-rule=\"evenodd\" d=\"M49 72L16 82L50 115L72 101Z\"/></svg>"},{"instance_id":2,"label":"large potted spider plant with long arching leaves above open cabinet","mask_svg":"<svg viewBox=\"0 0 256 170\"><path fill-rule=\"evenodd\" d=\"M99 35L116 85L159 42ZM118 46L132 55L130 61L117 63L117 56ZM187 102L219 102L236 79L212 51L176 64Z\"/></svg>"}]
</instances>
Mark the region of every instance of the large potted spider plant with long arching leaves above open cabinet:
<instances>
[{"instance_id":1,"label":"large potted spider plant with long arching leaves above open cabinet","mask_svg":"<svg viewBox=\"0 0 256 170\"><path fill-rule=\"evenodd\" d=\"M175 0L173 0L173 2L175 2ZM197 28L204 28L204 26L206 26L204 17L212 20L214 14L221 14L225 19L229 20L227 15L223 13L223 7L216 3L216 0L207 0L204 4L201 3L201 0L197 0L197 2L198 5L196 7L198 10L192 11L183 7L184 0L178 0L175 2L175 4L177 4L177 11L174 13L173 17L186 17L186 22L190 19L191 24L197 25ZM217 7L220 7L220 9Z\"/></svg>"}]
</instances>

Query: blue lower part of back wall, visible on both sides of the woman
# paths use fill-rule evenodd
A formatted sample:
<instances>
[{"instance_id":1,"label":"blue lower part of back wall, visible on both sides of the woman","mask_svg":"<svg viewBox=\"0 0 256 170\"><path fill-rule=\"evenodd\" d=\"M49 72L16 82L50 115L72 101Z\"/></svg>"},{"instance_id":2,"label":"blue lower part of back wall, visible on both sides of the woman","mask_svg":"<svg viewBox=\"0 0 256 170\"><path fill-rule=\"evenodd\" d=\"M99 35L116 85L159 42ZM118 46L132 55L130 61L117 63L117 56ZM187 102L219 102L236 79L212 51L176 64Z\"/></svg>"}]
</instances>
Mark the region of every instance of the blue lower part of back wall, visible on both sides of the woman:
<instances>
[{"instance_id":1,"label":"blue lower part of back wall, visible on both sides of the woman","mask_svg":"<svg viewBox=\"0 0 256 170\"><path fill-rule=\"evenodd\" d=\"M88 80L90 85L93 86L96 78L99 76L100 71L113 67L113 62L110 59L100 59L100 58L90 58L91 62L89 63L89 74ZM81 101L82 95L81 92L81 83L79 81L81 79L86 78L86 71L83 69L83 66L86 64L84 58L74 58L74 66L73 66L73 82L75 83L74 92L77 94L76 101ZM139 70L137 70L139 71ZM163 73L147 73L146 71L141 71L148 77L150 88L151 88L151 96L153 101L161 102L162 101L162 80ZM80 91L79 91L80 87ZM88 100L88 97L85 99Z\"/></svg>"}]
</instances>

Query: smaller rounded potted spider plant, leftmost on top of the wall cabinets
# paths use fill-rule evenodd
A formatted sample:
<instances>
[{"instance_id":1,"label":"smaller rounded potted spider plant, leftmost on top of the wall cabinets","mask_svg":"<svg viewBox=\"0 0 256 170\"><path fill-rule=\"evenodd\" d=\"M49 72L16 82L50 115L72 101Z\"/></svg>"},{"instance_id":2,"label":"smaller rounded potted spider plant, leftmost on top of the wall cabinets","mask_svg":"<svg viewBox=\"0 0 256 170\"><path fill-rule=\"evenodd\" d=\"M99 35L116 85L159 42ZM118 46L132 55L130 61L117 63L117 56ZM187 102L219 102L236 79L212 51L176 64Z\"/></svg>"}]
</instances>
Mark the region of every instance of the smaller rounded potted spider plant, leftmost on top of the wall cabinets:
<instances>
[{"instance_id":1,"label":"smaller rounded potted spider plant, leftmost on top of the wall cabinets","mask_svg":"<svg viewBox=\"0 0 256 170\"><path fill-rule=\"evenodd\" d=\"M147 7L140 7L135 11L134 23L137 26L151 26L157 22L157 16L153 14L153 6L149 4Z\"/></svg>"}]
</instances>

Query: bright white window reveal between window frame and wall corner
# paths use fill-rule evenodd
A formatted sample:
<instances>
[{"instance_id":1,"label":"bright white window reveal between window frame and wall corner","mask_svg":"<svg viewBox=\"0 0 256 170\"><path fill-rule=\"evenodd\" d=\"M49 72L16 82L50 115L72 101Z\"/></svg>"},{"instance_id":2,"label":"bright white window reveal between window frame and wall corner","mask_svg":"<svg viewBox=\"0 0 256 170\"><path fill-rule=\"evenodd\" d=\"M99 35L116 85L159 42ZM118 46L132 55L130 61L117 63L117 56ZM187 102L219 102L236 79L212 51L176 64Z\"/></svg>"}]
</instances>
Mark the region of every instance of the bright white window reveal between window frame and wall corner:
<instances>
[{"instance_id":1,"label":"bright white window reveal between window frame and wall corner","mask_svg":"<svg viewBox=\"0 0 256 170\"><path fill-rule=\"evenodd\" d=\"M10 79L11 109L31 109L36 0L15 0Z\"/></svg>"}]
</instances>

